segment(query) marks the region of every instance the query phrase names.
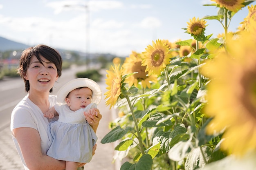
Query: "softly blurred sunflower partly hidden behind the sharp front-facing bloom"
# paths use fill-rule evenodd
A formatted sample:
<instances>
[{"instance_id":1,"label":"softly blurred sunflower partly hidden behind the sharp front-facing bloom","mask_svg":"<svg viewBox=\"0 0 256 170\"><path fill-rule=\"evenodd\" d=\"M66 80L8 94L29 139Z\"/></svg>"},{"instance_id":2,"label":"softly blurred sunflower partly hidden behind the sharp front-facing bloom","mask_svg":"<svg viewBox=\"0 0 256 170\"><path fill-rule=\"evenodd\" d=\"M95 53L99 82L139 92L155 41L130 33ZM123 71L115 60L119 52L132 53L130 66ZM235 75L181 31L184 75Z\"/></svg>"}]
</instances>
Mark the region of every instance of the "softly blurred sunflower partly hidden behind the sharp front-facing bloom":
<instances>
[{"instance_id":1,"label":"softly blurred sunflower partly hidden behind the sharp front-facing bloom","mask_svg":"<svg viewBox=\"0 0 256 170\"><path fill-rule=\"evenodd\" d=\"M135 51L132 51L132 54L126 58L123 64L123 74L138 73L127 77L125 82L129 86L134 84L135 87L138 87L138 82L141 82L143 88L146 88L146 86L150 88L150 81L157 82L157 77L155 75L148 75L148 71L145 71L146 66L141 66L141 61L141 54Z\"/></svg>"}]
</instances>

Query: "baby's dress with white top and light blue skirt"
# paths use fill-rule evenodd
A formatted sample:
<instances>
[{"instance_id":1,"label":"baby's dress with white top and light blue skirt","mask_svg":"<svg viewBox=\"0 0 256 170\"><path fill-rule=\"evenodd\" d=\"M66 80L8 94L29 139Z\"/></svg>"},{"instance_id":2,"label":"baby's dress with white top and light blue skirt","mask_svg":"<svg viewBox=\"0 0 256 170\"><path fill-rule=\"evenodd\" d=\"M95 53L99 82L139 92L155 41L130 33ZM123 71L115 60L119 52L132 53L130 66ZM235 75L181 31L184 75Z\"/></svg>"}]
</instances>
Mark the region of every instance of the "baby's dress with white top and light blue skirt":
<instances>
[{"instance_id":1,"label":"baby's dress with white top and light blue skirt","mask_svg":"<svg viewBox=\"0 0 256 170\"><path fill-rule=\"evenodd\" d=\"M83 115L84 111L96 108L89 104L76 111L66 104L54 106L59 114L58 121L51 121L48 126L48 156L58 160L88 163L92 159L92 147L98 137Z\"/></svg>"}]
</instances>

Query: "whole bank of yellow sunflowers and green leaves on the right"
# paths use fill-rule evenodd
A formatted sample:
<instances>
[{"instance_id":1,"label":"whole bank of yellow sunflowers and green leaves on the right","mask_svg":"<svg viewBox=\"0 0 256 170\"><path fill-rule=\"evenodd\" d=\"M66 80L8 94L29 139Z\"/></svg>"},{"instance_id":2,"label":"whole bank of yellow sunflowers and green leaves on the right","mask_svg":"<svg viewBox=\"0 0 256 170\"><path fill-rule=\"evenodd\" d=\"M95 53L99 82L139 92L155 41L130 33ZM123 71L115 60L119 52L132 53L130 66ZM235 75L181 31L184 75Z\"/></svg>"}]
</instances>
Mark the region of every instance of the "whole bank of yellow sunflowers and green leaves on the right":
<instances>
[{"instance_id":1,"label":"whole bank of yellow sunflowers and green leaves on the right","mask_svg":"<svg viewBox=\"0 0 256 170\"><path fill-rule=\"evenodd\" d=\"M256 5L212 1L217 15L187 22L191 39L155 40L107 71L119 117L101 143L118 141L120 170L256 170ZM223 34L205 35L207 20Z\"/></svg>"}]
</instances>

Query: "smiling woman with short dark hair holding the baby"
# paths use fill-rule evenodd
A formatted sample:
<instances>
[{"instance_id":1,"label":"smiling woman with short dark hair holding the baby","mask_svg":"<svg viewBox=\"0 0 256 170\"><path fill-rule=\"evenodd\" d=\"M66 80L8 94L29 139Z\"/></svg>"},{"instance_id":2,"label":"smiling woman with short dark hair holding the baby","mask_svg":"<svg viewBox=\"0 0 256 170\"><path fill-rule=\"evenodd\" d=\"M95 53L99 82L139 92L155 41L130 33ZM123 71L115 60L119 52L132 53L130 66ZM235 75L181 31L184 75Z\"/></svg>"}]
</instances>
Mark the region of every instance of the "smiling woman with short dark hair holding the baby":
<instances>
[{"instance_id":1,"label":"smiling woman with short dark hair holding the baby","mask_svg":"<svg viewBox=\"0 0 256 170\"><path fill-rule=\"evenodd\" d=\"M11 113L11 134L25 170L63 170L65 161L46 155L49 148L47 128L51 119L43 116L56 104L56 96L49 95L61 76L61 55L46 45L25 49L20 57L18 73L28 93ZM85 119L96 132L102 115ZM58 117L54 118L55 120ZM96 149L96 145L93 148ZM79 164L79 167L85 163Z\"/></svg>"}]
</instances>

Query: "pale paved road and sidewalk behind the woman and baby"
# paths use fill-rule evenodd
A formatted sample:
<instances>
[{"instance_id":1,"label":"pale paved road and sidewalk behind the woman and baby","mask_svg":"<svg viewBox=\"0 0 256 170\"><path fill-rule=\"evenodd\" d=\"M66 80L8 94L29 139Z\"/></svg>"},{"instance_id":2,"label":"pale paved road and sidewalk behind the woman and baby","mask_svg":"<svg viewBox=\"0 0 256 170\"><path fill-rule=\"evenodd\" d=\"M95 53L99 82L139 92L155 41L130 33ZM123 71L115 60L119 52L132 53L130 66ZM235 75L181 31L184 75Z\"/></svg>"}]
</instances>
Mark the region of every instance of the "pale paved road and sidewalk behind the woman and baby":
<instances>
[{"instance_id":1,"label":"pale paved road and sidewalk behind the woman and baby","mask_svg":"<svg viewBox=\"0 0 256 170\"><path fill-rule=\"evenodd\" d=\"M62 76L55 83L53 88L53 95L58 92L58 89L66 82L76 78L77 71L85 70L85 67L72 67L69 70L62 71ZM105 74L105 72L101 73ZM103 77L104 79L104 77ZM101 86L103 94L106 93L106 83L104 80L98 82ZM20 100L27 94L24 89L24 82L21 78L4 79L0 81L0 170L23 170L22 163L18 157L16 148L14 147L10 133L10 118L11 111L20 102ZM104 98L104 96L103 96ZM120 169L120 161L112 163L112 158L115 155L115 143L101 144L101 139L110 131L108 124L115 119L115 110L109 110L105 106L103 99L98 105L102 114L98 130L97 150L92 157L92 161L85 165L86 170L118 170Z\"/></svg>"}]
</instances>

